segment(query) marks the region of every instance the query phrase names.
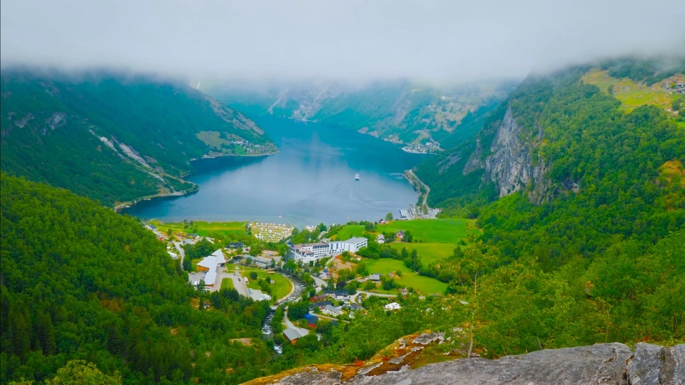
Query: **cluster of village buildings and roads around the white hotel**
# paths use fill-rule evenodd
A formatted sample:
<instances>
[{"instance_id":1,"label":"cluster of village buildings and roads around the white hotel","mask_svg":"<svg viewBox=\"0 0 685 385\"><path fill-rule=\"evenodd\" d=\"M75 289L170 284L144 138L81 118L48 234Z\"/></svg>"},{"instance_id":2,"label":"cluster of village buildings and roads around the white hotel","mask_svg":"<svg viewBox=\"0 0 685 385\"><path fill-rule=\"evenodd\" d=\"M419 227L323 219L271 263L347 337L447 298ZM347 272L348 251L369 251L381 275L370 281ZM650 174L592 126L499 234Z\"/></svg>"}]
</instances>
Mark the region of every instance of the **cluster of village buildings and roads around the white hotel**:
<instances>
[{"instance_id":1,"label":"cluster of village buildings and roads around the white hotel","mask_svg":"<svg viewBox=\"0 0 685 385\"><path fill-rule=\"evenodd\" d=\"M161 224L159 226L163 227ZM350 279L365 284L365 289L369 291L339 288L340 270L351 267L349 262L342 260L343 255L345 260L360 261L362 257L356 253L368 246L366 237L350 237L347 240L322 238L318 242L300 244L288 240L285 242L287 249L283 249L287 250L285 256L277 250L264 249L258 255L252 255L256 253L250 254L253 249L245 242L224 243L213 237L169 232L168 228L164 232L153 222L146 223L145 227L154 232L158 240L167 242L168 255L181 265L186 260L188 247L192 248L200 242L216 247L213 252L191 262L188 284L203 292L217 292L222 287L235 289L238 294L254 301L270 302L272 309L285 305L283 337L290 343L295 343L298 338L316 329L320 319L333 323L349 322L357 314L363 314L365 309L362 301L365 297L375 295L392 299L399 294L407 294L406 289L397 291L397 294L375 292L382 283L383 274L378 272ZM308 227L309 230L314 228ZM260 222L251 222L247 229L255 240L268 242L286 240L293 232L293 227L287 225ZM399 231L395 237L401 240L404 235L404 232ZM385 237L378 235L375 242L382 244ZM303 282L296 272L298 268L315 273L310 274L313 282ZM392 273L386 275L393 276ZM338 279L338 284L335 279ZM291 320L287 309L293 304L300 308L306 304L306 312ZM210 307L210 304L203 302L198 306ZM397 302L390 302L386 306L388 311L400 309Z\"/></svg>"}]
</instances>

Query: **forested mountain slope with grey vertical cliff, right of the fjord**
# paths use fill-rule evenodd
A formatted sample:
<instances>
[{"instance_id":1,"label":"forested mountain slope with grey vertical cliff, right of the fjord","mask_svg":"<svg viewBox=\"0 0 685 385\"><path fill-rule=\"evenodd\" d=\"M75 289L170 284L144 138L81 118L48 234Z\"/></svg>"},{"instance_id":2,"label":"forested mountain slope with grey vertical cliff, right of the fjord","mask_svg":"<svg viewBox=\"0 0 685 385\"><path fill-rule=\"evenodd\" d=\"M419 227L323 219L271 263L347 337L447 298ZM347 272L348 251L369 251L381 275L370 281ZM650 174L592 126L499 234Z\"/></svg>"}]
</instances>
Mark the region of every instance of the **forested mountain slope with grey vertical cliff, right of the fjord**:
<instances>
[{"instance_id":1,"label":"forested mountain slope with grey vertical cliff, right of the fjord","mask_svg":"<svg viewBox=\"0 0 685 385\"><path fill-rule=\"evenodd\" d=\"M685 223L685 121L670 104L621 108L582 81L590 70L529 77L474 140L419 165L430 203L480 213L517 244L512 256L542 237L540 256L557 262L612 236L653 241Z\"/></svg>"}]
</instances>

